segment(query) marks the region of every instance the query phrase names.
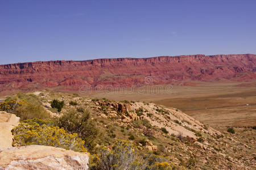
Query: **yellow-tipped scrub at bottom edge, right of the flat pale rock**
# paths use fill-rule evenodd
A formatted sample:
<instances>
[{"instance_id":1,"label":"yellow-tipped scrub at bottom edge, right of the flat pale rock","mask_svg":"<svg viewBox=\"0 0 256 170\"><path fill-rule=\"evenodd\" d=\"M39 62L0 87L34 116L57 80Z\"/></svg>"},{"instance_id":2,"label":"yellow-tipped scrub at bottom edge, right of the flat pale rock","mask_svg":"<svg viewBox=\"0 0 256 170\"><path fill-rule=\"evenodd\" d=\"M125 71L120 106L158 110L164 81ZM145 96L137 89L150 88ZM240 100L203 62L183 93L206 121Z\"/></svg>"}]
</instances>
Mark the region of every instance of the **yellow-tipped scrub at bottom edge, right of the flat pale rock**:
<instances>
[{"instance_id":1,"label":"yellow-tipped scrub at bottom edge, right of the flat pale rock","mask_svg":"<svg viewBox=\"0 0 256 170\"><path fill-rule=\"evenodd\" d=\"M146 154L142 158L133 143L118 140L113 146L102 145L98 147L97 154L90 155L89 167L93 170L171 170L177 168L176 165L167 161L163 156L154 154Z\"/></svg>"}]
</instances>

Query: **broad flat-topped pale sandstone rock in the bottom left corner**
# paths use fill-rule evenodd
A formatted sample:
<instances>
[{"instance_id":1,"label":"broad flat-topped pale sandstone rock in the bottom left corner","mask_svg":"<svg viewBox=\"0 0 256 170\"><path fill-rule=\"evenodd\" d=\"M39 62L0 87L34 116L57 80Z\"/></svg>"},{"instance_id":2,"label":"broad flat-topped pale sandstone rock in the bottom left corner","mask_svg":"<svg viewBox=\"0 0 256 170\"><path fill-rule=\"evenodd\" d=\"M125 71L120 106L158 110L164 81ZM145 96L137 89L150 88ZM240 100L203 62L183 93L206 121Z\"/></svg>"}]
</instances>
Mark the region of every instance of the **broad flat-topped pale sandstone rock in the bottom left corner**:
<instances>
[{"instance_id":1,"label":"broad flat-topped pale sandstone rock in the bottom left corner","mask_svg":"<svg viewBox=\"0 0 256 170\"><path fill-rule=\"evenodd\" d=\"M0 169L88 169L89 155L30 145L0 151Z\"/></svg>"}]
</instances>

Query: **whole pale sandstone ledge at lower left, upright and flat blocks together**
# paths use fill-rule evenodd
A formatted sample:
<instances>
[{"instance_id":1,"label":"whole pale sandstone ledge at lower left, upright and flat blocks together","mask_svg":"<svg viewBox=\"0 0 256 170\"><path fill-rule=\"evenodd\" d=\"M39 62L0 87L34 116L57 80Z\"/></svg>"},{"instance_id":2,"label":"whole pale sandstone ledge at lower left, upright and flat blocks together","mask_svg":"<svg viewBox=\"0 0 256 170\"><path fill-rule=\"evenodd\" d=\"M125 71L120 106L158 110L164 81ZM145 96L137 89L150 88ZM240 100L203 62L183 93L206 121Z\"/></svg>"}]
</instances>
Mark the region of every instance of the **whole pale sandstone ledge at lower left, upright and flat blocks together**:
<instances>
[{"instance_id":1,"label":"whole pale sandstone ledge at lower left, upright and flat blocks together","mask_svg":"<svg viewBox=\"0 0 256 170\"><path fill-rule=\"evenodd\" d=\"M51 146L12 147L11 129L19 124L14 114L0 112L0 170L88 169L89 154Z\"/></svg>"}]
</instances>

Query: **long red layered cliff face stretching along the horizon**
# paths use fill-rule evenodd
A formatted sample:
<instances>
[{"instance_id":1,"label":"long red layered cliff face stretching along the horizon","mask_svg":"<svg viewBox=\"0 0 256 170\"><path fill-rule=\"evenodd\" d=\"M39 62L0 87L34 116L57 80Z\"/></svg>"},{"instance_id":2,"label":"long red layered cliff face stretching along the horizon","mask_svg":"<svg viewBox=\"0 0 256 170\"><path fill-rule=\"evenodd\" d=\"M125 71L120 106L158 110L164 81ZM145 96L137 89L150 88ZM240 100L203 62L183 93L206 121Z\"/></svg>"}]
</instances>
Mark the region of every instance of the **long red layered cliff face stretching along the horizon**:
<instances>
[{"instance_id":1,"label":"long red layered cliff face stretching along the horizon","mask_svg":"<svg viewBox=\"0 0 256 170\"><path fill-rule=\"evenodd\" d=\"M60 86L133 86L150 76L150 84L173 81L250 81L256 79L256 55L162 56L88 61L38 61L0 65L0 90Z\"/></svg>"}]
</instances>

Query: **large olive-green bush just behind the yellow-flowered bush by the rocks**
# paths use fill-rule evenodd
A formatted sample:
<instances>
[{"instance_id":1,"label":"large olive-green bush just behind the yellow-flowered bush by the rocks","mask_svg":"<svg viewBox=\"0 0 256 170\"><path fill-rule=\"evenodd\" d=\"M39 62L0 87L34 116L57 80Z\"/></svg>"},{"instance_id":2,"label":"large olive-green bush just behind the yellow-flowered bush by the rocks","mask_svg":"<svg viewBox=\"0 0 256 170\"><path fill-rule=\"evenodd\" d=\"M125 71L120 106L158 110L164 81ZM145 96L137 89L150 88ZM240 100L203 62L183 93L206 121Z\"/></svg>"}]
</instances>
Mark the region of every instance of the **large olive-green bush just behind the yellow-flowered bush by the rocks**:
<instances>
[{"instance_id":1,"label":"large olive-green bush just behind the yellow-flowered bush by the rocks","mask_svg":"<svg viewBox=\"0 0 256 170\"><path fill-rule=\"evenodd\" d=\"M57 120L57 125L60 128L64 128L69 133L77 133L79 137L85 141L85 146L90 150L96 146L96 140L100 141L96 122L91 119L88 110L80 113L73 109L68 113L64 113L63 116Z\"/></svg>"}]
</instances>

